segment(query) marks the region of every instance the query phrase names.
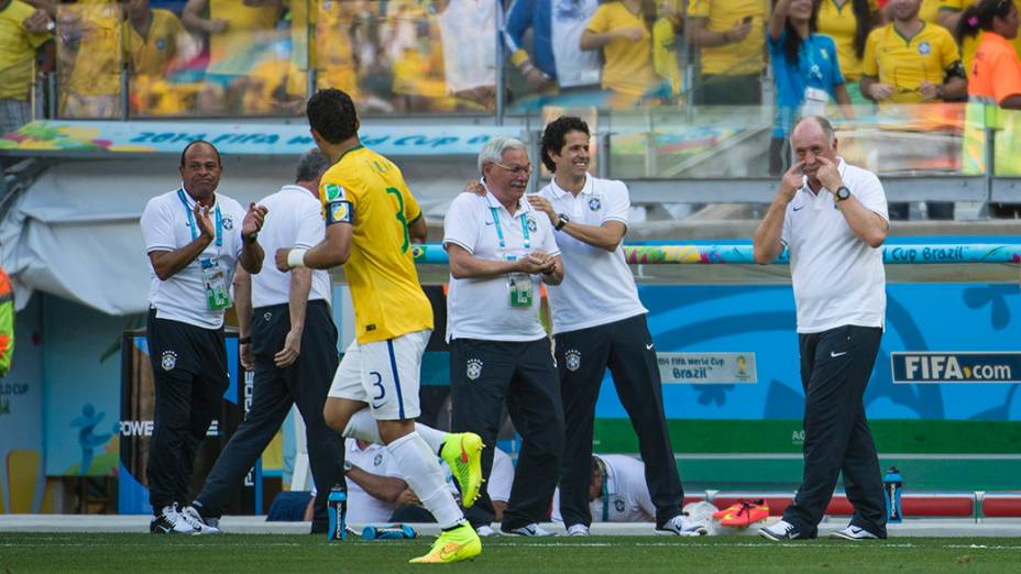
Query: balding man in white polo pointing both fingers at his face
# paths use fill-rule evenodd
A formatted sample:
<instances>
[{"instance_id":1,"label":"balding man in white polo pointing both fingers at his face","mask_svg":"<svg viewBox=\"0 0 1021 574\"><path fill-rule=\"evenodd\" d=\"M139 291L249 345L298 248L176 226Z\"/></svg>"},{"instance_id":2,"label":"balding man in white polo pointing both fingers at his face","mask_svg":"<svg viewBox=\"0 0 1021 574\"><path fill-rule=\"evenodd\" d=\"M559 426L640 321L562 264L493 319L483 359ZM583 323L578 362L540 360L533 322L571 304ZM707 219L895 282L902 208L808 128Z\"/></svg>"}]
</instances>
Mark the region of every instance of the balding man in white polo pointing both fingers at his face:
<instances>
[{"instance_id":1,"label":"balding man in white polo pointing both fingers at his face","mask_svg":"<svg viewBox=\"0 0 1021 574\"><path fill-rule=\"evenodd\" d=\"M879 178L837 157L825 118L791 131L797 163L755 232L755 261L772 263L787 246L798 311L804 401L804 475L769 540L815 538L843 472L855 507L836 538L887 538L882 476L865 419L865 388L886 313L882 246L889 230Z\"/></svg>"}]
</instances>

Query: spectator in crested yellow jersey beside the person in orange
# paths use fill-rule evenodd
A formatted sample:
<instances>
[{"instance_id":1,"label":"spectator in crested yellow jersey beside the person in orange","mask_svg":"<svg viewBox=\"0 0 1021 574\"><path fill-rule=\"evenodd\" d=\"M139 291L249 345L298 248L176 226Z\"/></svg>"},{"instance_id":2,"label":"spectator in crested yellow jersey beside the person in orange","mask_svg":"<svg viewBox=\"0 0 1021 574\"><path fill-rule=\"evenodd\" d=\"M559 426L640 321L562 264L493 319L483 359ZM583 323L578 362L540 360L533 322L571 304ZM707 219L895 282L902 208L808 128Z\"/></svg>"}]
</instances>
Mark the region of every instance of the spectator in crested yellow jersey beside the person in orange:
<instances>
[{"instance_id":1,"label":"spectator in crested yellow jersey beside the person in orange","mask_svg":"<svg viewBox=\"0 0 1021 574\"><path fill-rule=\"evenodd\" d=\"M923 103L962 98L967 81L946 29L919 18L921 0L890 0L893 22L874 30L861 59L861 93L879 102Z\"/></svg>"}]
</instances>

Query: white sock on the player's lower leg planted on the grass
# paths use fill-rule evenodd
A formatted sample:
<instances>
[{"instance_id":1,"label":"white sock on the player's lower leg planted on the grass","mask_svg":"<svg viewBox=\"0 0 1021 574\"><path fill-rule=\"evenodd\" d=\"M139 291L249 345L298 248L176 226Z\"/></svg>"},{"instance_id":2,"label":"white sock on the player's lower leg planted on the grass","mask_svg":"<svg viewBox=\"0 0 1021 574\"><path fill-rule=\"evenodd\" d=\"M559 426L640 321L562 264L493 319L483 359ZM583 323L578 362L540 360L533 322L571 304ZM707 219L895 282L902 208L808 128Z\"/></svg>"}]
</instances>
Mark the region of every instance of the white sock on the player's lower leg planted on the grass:
<instances>
[{"instance_id":1,"label":"white sock on the player's lower leg planted on the grass","mask_svg":"<svg viewBox=\"0 0 1021 574\"><path fill-rule=\"evenodd\" d=\"M464 515L447 488L443 471L429 446L418 432L413 432L389 443L387 449L397 461L404 481L418 495L440 528L453 528L464 520Z\"/></svg>"}]
</instances>

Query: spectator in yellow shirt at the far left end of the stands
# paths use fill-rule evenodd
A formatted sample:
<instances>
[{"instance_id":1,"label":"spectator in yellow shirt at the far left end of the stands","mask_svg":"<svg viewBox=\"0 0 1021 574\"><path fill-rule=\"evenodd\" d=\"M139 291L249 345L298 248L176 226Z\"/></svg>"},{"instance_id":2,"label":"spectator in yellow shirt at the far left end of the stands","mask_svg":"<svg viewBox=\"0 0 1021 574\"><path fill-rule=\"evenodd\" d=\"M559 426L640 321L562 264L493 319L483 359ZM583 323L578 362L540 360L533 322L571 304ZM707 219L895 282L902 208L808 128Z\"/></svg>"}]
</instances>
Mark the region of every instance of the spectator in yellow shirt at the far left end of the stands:
<instances>
[{"instance_id":1,"label":"spectator in yellow shirt at the far left end of the stands","mask_svg":"<svg viewBox=\"0 0 1021 574\"><path fill-rule=\"evenodd\" d=\"M53 70L53 36L25 27L33 12L21 0L0 0L0 136L32 121L29 91L39 57L40 71Z\"/></svg>"}]
</instances>

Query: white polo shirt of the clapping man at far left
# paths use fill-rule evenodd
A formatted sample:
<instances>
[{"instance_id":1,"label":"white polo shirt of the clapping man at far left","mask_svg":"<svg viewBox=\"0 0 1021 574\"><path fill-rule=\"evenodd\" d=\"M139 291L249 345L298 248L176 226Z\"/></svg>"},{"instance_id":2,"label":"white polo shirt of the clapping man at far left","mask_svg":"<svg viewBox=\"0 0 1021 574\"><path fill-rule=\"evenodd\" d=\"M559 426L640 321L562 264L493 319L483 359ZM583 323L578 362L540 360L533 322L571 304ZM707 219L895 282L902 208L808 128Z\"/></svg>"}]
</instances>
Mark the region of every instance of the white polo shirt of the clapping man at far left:
<instances>
[{"instance_id":1,"label":"white polo shirt of the clapping man at far left","mask_svg":"<svg viewBox=\"0 0 1021 574\"><path fill-rule=\"evenodd\" d=\"M201 233L196 227L193 235L191 210L195 209L195 200L184 192L183 202L178 190L150 199L142 211L142 239L145 241L146 255L154 251L180 249ZM204 329L219 329L223 325L223 310L209 310L200 262L204 258L218 262L223 269L227 288L231 287L234 267L243 246L241 223L244 221L245 210L241 203L222 194L216 195L215 205L220 209L222 244L209 242L198 257L165 282L154 276L156 283L150 287L150 297L151 305L156 308L156 318L180 321ZM210 211L209 219L216 227L213 210Z\"/></svg>"}]
</instances>

